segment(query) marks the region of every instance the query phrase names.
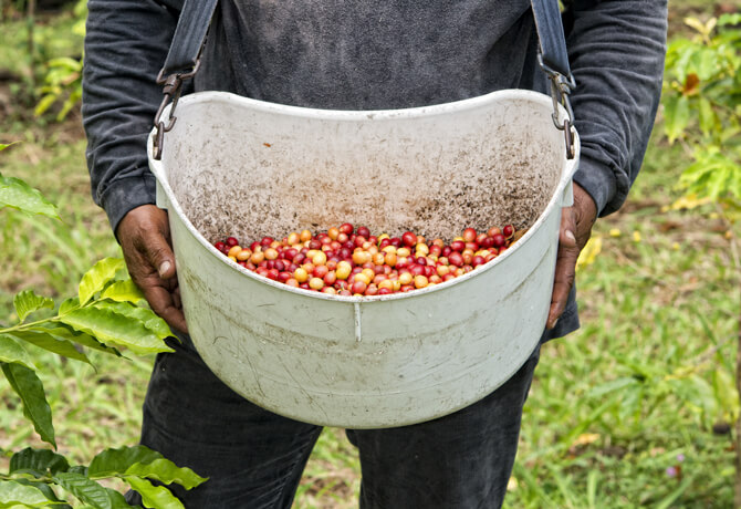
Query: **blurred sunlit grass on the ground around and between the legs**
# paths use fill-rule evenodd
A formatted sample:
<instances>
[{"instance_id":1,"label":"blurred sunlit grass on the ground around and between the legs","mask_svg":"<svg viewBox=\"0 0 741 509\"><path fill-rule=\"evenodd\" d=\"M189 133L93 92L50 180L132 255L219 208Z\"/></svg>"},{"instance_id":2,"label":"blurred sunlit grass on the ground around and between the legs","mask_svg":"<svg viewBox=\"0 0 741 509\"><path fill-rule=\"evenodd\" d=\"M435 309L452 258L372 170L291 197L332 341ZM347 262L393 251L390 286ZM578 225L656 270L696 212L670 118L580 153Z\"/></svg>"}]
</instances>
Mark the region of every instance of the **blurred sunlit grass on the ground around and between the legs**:
<instances>
[{"instance_id":1,"label":"blurred sunlit grass on the ground around and between the legs","mask_svg":"<svg viewBox=\"0 0 741 509\"><path fill-rule=\"evenodd\" d=\"M0 211L0 323L12 320L17 291L72 294L87 267L119 253L90 197L79 121L11 117L0 139L23 143L0 154L2 173L40 188L64 222ZM625 207L597 222L592 247L601 251L577 276L583 326L543 347L507 508L732 506L734 451L723 425L738 415L741 231L712 206L670 208L686 162L681 147L655 136ZM63 453L86 463L137 442L150 357L92 353L96 370L38 359ZM0 401L0 449L41 445L4 382ZM357 453L343 430L325 429L295 507L356 507L358 489Z\"/></svg>"}]
</instances>

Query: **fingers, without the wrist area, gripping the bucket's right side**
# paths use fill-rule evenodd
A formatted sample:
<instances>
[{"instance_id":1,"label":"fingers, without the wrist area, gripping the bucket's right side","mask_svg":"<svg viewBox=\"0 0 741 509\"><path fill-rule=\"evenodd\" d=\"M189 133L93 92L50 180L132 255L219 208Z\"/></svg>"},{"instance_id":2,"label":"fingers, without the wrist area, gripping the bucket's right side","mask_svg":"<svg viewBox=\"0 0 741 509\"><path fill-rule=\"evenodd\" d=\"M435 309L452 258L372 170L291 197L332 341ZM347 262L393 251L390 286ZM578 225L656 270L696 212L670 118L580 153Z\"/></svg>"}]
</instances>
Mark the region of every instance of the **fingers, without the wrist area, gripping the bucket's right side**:
<instances>
[{"instance_id":1,"label":"fingers, without the wrist area, gripping the bucket's right side","mask_svg":"<svg viewBox=\"0 0 741 509\"><path fill-rule=\"evenodd\" d=\"M559 232L559 252L556 254L555 277L553 281L553 293L551 294L551 308L545 322L546 329L553 329L559 318L566 309L568 293L574 285L576 276L576 259L580 248L576 243L574 230L576 220L571 208L565 208L561 215L561 230Z\"/></svg>"}]
</instances>

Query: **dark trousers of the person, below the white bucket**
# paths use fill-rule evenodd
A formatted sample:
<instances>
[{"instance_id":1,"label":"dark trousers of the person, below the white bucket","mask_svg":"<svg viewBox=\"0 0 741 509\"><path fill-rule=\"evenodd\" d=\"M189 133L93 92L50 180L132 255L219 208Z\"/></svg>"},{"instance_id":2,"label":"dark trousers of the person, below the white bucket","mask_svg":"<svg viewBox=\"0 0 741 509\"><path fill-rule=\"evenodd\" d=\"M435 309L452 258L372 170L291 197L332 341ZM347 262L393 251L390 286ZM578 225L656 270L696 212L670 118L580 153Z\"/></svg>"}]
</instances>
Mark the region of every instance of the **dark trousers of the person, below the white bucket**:
<instances>
[{"instance_id":1,"label":"dark trousers of the person, below the white bucket","mask_svg":"<svg viewBox=\"0 0 741 509\"><path fill-rule=\"evenodd\" d=\"M232 392L188 339L174 347L157 356L142 444L209 480L173 491L188 509L290 508L322 428ZM396 428L348 429L361 457L361 507L501 507L539 351L500 388L451 415ZM128 499L140 503L136 494Z\"/></svg>"}]
</instances>

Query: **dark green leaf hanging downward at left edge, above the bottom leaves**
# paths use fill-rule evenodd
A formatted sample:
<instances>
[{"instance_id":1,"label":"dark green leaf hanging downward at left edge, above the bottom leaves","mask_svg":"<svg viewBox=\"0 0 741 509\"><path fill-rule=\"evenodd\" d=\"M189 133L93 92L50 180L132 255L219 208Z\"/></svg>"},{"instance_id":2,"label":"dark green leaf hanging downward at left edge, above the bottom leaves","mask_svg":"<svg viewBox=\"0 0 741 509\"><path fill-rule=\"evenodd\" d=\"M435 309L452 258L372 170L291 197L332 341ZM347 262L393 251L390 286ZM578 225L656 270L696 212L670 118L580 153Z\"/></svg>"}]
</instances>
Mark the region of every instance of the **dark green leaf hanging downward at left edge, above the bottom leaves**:
<instances>
[{"instance_id":1,"label":"dark green leaf hanging downward at left edge, above the bottom leaves","mask_svg":"<svg viewBox=\"0 0 741 509\"><path fill-rule=\"evenodd\" d=\"M23 415L31 420L42 440L56 448L52 409L46 402L44 385L33 370L20 364L2 363L2 372L23 402Z\"/></svg>"}]
</instances>

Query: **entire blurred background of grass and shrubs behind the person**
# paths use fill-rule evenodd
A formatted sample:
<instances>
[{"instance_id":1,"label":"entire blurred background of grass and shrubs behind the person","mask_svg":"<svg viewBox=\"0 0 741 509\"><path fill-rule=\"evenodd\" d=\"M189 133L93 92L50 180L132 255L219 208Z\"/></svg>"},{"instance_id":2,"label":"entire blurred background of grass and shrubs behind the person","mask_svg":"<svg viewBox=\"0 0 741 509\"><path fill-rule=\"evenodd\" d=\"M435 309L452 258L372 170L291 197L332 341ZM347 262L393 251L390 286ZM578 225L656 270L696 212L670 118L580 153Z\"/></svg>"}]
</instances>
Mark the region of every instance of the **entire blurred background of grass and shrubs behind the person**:
<instances>
[{"instance_id":1,"label":"entire blurred background of grass and shrubs behind the person","mask_svg":"<svg viewBox=\"0 0 741 509\"><path fill-rule=\"evenodd\" d=\"M740 7L669 8L645 165L580 260L582 329L543 347L505 507L734 505ZM72 294L93 262L119 256L84 162L84 1L0 0L0 143L21 142L0 153L0 170L39 188L63 218L0 211L0 323L13 318L15 292ZM137 442L153 361L91 357L97 371L40 360L60 449L79 461ZM13 396L0 384L0 467L11 450L41 446ZM356 451L343 430L326 429L295 507L356 507L358 487Z\"/></svg>"}]
</instances>

